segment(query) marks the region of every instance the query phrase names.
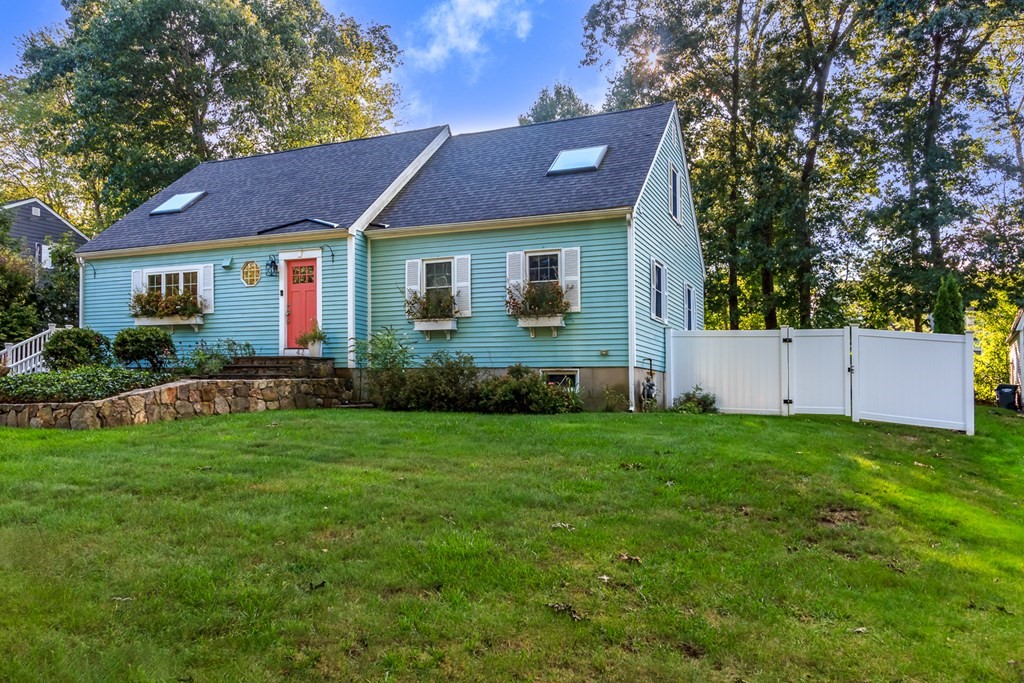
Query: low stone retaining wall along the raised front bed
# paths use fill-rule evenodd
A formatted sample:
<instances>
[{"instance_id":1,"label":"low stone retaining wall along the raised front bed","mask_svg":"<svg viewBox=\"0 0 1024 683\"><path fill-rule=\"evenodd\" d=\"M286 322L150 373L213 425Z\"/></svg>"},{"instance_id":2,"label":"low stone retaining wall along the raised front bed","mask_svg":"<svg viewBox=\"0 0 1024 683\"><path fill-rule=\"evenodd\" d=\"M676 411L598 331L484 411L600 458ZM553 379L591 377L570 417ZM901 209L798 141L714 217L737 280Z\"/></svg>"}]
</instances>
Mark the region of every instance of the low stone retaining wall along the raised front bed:
<instances>
[{"instance_id":1,"label":"low stone retaining wall along the raised front bed","mask_svg":"<svg viewBox=\"0 0 1024 683\"><path fill-rule=\"evenodd\" d=\"M181 380L77 403L0 403L0 426L98 429L203 415L336 408L351 391L338 379Z\"/></svg>"}]
</instances>

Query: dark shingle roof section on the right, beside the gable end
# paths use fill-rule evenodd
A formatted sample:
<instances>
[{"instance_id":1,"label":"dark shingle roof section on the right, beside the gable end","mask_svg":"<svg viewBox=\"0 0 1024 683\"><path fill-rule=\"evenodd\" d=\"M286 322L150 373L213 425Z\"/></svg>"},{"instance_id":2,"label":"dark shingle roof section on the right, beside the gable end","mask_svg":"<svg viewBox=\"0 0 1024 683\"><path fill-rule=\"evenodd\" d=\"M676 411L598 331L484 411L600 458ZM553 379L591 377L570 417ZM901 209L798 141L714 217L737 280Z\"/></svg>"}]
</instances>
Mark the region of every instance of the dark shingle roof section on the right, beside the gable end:
<instances>
[{"instance_id":1,"label":"dark shingle roof section on the right, beside the gable end","mask_svg":"<svg viewBox=\"0 0 1024 683\"><path fill-rule=\"evenodd\" d=\"M633 206L673 108L456 135L374 222L412 227ZM547 175L560 151L601 144L608 152L597 171Z\"/></svg>"}]
</instances>

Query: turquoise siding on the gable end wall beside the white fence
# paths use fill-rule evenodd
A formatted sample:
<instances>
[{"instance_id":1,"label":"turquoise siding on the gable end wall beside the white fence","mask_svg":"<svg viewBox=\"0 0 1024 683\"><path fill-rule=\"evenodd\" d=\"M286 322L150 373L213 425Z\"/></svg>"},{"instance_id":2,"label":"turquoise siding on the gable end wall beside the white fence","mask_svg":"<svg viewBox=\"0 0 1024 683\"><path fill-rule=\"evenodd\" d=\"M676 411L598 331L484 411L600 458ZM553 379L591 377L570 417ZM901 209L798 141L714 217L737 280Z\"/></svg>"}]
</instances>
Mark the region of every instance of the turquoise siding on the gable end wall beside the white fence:
<instances>
[{"instance_id":1,"label":"turquoise siding on the gable end wall beside the white fence","mask_svg":"<svg viewBox=\"0 0 1024 683\"><path fill-rule=\"evenodd\" d=\"M670 213L670 164L683 178L680 197L682 224ZM679 143L675 120L654 159L653 170L637 202L633 226L636 241L636 305L637 305L637 357L640 367L647 366L647 358L654 361L654 369L665 370L665 331L668 328L684 330L686 299L684 284L693 288L694 329L703 329L705 273L700 264L699 238L693 205L690 202L689 177L686 162ZM667 266L669 290L669 319L667 324L651 317L651 259Z\"/></svg>"}]
</instances>

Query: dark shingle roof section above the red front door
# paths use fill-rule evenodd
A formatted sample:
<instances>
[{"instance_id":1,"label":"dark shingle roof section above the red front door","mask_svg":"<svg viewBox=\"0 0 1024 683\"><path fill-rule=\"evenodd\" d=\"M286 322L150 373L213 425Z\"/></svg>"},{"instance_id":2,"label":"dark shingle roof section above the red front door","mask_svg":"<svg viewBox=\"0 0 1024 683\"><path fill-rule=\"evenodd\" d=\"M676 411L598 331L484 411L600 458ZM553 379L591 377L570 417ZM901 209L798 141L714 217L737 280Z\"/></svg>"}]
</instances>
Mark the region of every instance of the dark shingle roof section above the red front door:
<instances>
[{"instance_id":1,"label":"dark shingle roof section above the red front door","mask_svg":"<svg viewBox=\"0 0 1024 683\"><path fill-rule=\"evenodd\" d=\"M444 129L444 126L208 162L106 228L79 253L207 240L347 228ZM174 195L207 195L181 213L151 216Z\"/></svg>"}]
</instances>

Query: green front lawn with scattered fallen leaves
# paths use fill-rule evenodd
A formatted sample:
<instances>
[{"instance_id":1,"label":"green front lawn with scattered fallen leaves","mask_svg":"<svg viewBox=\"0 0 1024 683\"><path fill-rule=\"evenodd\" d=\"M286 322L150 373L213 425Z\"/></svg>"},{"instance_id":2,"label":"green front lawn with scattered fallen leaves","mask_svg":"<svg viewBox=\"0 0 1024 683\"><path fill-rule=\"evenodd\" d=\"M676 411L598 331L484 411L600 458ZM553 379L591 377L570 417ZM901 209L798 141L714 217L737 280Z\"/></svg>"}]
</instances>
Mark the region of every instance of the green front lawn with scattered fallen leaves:
<instances>
[{"instance_id":1,"label":"green front lawn with scattered fallen leaves","mask_svg":"<svg viewBox=\"0 0 1024 683\"><path fill-rule=\"evenodd\" d=\"M977 420L0 429L0 680L1021 681L1024 420Z\"/></svg>"}]
</instances>

